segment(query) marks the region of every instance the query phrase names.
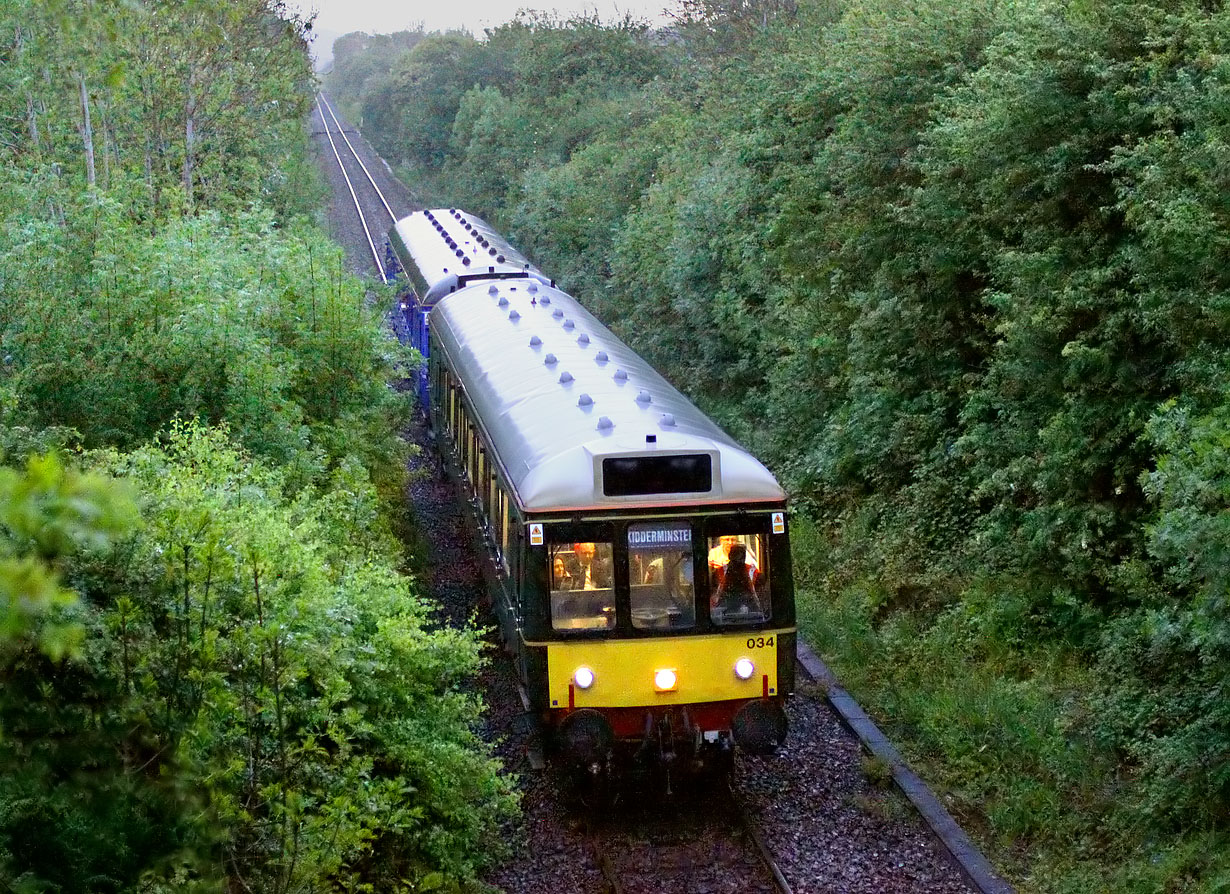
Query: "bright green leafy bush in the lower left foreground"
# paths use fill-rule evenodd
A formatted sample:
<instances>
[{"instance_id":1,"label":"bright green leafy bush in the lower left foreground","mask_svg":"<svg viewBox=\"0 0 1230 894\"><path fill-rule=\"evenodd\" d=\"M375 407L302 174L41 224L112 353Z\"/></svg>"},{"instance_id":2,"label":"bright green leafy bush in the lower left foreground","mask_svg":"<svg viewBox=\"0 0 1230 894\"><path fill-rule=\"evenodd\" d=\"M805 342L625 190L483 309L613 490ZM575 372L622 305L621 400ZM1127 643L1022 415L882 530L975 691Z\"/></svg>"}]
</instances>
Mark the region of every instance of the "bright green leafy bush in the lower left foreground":
<instances>
[{"instance_id":1,"label":"bright green leafy bush in the lower left foreground","mask_svg":"<svg viewBox=\"0 0 1230 894\"><path fill-rule=\"evenodd\" d=\"M0 841L26 883L471 878L513 805L472 732L480 641L430 628L396 545L363 524L365 472L295 496L196 424L103 460L143 494L145 525L69 569L81 658L49 676L27 652L0 697Z\"/></svg>"}]
</instances>

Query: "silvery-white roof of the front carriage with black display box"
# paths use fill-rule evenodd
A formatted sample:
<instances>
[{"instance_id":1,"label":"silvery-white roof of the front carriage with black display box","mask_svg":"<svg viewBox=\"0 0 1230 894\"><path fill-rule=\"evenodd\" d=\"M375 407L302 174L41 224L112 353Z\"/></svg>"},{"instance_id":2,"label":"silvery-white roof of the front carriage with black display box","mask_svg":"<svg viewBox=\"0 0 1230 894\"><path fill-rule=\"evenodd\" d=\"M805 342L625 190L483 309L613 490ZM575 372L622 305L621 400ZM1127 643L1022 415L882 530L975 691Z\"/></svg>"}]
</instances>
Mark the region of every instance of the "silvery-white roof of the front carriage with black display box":
<instances>
[{"instance_id":1,"label":"silvery-white roof of the front carriage with black display box","mask_svg":"<svg viewBox=\"0 0 1230 894\"><path fill-rule=\"evenodd\" d=\"M526 512L785 499L768 469L549 284L470 283L439 300L429 323ZM708 457L707 488L621 494L611 483L619 469L652 477L656 462L668 464L668 488L695 481L689 457Z\"/></svg>"}]
</instances>

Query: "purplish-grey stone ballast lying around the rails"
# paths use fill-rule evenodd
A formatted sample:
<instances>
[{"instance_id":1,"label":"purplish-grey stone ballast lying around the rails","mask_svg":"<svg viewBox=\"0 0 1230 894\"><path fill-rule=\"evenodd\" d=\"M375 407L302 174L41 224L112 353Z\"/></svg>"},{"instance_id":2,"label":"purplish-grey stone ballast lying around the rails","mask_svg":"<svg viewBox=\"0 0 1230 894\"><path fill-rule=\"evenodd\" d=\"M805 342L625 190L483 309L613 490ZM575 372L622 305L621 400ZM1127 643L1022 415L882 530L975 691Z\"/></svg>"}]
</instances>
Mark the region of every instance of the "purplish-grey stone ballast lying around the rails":
<instances>
[{"instance_id":1,"label":"purplish-grey stone ballast lying around the rails","mask_svg":"<svg viewBox=\"0 0 1230 894\"><path fill-rule=\"evenodd\" d=\"M314 114L312 130L321 130ZM365 141L352 143L380 181L394 210L408 213L419 205L396 182ZM371 256L337 172L323 135L314 136L325 176L333 186L328 225L342 242L354 269L371 275ZM385 183L387 181L387 183ZM341 194L338 194L341 191ZM387 229L387 214L374 196L365 212ZM426 590L440 604L442 622L464 623L480 610L480 561L466 534L469 509L460 505L432 454L422 422L411 432L422 446L415 459L417 475L410 498L428 545ZM490 619L478 615L480 623ZM736 872L734 849L745 847L742 834L732 836L729 823L707 808L704 797L672 802L645 797L635 808L593 810L578 804L569 786L552 767L529 769L526 753L531 724L517 694L512 662L491 642L491 663L478 681L490 706L485 735L509 771L518 773L523 820L508 830L512 856L492 869L486 882L514 894L573 894L604 892L608 885L593 853L588 828L598 820L598 837L614 842L620 855L652 849L674 837L674 855L658 867L657 890L688 894L759 890L747 887ZM734 785L758 824L769 850L796 894L968 892L945 849L895 788L877 788L862 766L859 740L840 723L823 692L800 684L790 705L791 733L785 748L771 758L744 758L736 762ZM597 814L597 817L595 817ZM669 834L668 834L669 833ZM742 857L738 857L742 860ZM673 863L672 863L673 861ZM662 862L662 861L659 861ZM648 883L646 883L648 884ZM736 885L736 887L732 887ZM636 890L651 888L638 884Z\"/></svg>"}]
</instances>

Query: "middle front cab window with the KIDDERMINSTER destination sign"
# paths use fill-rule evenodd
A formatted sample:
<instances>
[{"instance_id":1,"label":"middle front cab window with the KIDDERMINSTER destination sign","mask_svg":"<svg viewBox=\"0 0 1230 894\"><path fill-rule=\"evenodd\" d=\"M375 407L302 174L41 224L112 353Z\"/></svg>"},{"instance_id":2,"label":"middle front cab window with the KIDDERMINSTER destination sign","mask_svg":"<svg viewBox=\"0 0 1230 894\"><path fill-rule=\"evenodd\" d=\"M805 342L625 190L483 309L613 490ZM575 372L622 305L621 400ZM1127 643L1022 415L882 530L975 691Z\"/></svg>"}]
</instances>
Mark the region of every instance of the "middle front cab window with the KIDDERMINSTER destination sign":
<instances>
[{"instance_id":1,"label":"middle front cab window with the KIDDERMINSTER destination sign","mask_svg":"<svg viewBox=\"0 0 1230 894\"><path fill-rule=\"evenodd\" d=\"M691 525L685 521L629 525L627 566L633 627L696 626Z\"/></svg>"}]
</instances>

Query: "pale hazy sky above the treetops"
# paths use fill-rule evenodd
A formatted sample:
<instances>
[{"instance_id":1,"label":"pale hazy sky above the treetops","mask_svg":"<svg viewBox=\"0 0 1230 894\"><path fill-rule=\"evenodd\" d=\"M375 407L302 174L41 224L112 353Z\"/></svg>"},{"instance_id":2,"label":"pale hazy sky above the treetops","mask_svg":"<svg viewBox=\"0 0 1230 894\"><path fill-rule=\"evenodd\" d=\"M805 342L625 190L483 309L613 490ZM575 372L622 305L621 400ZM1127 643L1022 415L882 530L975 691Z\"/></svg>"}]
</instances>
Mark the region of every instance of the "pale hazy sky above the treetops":
<instances>
[{"instance_id":1,"label":"pale hazy sky above the treetops","mask_svg":"<svg viewBox=\"0 0 1230 894\"><path fill-rule=\"evenodd\" d=\"M423 25L427 31L466 28L475 37L482 30L512 21L520 9L558 12L561 17L597 12L604 22L631 12L651 25L663 25L664 9L674 9L674 0L288 0L300 12L317 12L317 58L331 55L333 39L352 31L387 34L412 31ZM323 47L320 44L325 44Z\"/></svg>"}]
</instances>

